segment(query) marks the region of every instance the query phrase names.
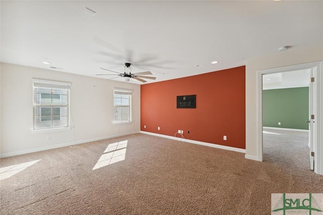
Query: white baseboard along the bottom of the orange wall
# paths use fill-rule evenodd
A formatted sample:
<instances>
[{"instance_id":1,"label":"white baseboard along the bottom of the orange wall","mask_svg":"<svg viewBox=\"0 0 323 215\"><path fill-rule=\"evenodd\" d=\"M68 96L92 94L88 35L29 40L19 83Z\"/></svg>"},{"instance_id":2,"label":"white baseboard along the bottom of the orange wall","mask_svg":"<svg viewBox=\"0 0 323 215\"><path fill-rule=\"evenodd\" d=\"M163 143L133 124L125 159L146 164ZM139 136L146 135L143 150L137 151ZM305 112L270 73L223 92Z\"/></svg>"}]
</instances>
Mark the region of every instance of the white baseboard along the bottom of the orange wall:
<instances>
[{"instance_id":1,"label":"white baseboard along the bottom of the orange wall","mask_svg":"<svg viewBox=\"0 0 323 215\"><path fill-rule=\"evenodd\" d=\"M217 144L209 144L208 142L201 142L201 141L192 140L192 139L184 139L181 137L168 136L168 135L164 135L164 134L151 133L151 132L147 132L147 131L140 131L140 133L165 137L165 138L169 138L169 139L175 139L175 140L179 140L179 141L183 141L183 142L189 142L191 144L198 144L198 145L207 146L207 147L213 147L213 148L218 148L218 149L223 149L223 150L230 150L230 151L234 151L234 152L246 153L246 150L244 150L244 149L227 147L227 146L222 146L222 145L217 145Z\"/></svg>"}]
</instances>

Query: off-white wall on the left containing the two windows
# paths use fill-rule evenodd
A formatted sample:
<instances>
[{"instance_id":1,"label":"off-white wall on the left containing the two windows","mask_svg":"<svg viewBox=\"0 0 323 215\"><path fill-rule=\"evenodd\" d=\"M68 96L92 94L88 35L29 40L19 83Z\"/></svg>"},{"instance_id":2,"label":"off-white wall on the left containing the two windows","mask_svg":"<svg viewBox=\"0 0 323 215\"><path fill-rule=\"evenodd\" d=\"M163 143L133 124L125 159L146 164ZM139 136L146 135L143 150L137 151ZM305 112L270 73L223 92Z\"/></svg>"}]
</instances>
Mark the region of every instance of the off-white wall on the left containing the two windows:
<instances>
[{"instance_id":1,"label":"off-white wall on the left containing the two windows","mask_svg":"<svg viewBox=\"0 0 323 215\"><path fill-rule=\"evenodd\" d=\"M140 131L140 85L1 63L2 157ZM71 130L31 133L32 79L71 82ZM114 125L113 89L130 89L133 123ZM51 140L46 140L51 136Z\"/></svg>"}]
</instances>

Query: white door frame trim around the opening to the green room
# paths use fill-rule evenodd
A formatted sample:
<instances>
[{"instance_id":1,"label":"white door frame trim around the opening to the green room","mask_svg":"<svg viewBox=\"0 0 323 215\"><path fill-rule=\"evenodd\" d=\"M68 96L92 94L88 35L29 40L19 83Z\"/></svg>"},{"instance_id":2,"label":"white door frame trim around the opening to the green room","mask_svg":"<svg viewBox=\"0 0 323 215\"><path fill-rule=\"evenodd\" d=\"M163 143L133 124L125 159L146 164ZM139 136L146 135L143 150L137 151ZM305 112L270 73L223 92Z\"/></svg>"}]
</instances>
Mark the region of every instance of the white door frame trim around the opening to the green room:
<instances>
[{"instance_id":1,"label":"white door frame trim around the opening to the green room","mask_svg":"<svg viewBox=\"0 0 323 215\"><path fill-rule=\"evenodd\" d=\"M315 155L314 155L314 172L316 174L323 175L323 143L322 136L323 133L323 70L322 70L323 61L303 63L297 65L283 66L278 68L269 68L262 69L257 71L257 118L258 118L258 128L257 128L257 160L262 161L262 75L265 74L274 74L274 73L284 73L286 71L295 71L301 69L308 69L316 67L315 85L314 85L314 97L315 97L315 126L314 126L314 141L315 141Z\"/></svg>"}]
</instances>

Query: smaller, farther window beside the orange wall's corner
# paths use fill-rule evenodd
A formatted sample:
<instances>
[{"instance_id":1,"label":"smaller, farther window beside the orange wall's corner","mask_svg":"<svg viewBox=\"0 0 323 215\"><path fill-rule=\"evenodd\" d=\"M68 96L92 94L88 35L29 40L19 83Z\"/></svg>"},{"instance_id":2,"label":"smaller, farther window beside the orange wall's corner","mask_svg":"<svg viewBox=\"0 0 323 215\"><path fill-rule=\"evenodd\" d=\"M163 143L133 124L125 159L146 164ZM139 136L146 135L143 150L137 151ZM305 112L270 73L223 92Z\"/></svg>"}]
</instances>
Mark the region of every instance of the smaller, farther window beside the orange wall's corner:
<instances>
[{"instance_id":1,"label":"smaller, farther window beside the orange wall's corner","mask_svg":"<svg viewBox=\"0 0 323 215\"><path fill-rule=\"evenodd\" d=\"M130 90L114 90L114 122L131 122L131 92Z\"/></svg>"}]
</instances>

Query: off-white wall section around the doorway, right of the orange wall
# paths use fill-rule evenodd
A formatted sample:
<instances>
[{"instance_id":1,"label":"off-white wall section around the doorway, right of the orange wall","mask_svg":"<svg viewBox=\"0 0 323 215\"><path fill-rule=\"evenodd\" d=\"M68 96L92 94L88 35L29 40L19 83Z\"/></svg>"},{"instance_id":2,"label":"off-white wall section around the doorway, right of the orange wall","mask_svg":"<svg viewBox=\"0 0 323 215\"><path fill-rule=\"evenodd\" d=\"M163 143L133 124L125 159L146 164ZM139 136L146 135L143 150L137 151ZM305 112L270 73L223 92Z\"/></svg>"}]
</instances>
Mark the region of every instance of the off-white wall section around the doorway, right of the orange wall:
<instances>
[{"instance_id":1,"label":"off-white wall section around the doorway, right of the orange wall","mask_svg":"<svg viewBox=\"0 0 323 215\"><path fill-rule=\"evenodd\" d=\"M257 160L257 70L323 60L323 47L288 49L246 60L246 158ZM322 135L322 134L320 134Z\"/></svg>"}]
</instances>

